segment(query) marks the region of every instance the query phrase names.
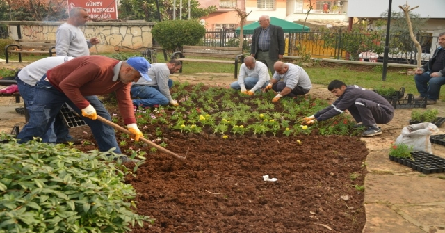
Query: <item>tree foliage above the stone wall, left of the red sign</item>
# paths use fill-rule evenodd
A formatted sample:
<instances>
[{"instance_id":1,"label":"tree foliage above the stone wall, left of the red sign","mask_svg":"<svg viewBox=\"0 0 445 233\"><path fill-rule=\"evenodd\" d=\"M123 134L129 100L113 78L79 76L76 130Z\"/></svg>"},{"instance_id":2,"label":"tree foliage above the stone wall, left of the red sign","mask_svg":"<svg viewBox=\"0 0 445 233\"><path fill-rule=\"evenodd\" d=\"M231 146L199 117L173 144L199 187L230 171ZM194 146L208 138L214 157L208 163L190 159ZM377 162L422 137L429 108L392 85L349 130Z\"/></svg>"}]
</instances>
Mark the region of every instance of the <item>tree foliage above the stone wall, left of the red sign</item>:
<instances>
[{"instance_id":1,"label":"tree foliage above the stone wall, left of the red sign","mask_svg":"<svg viewBox=\"0 0 445 233\"><path fill-rule=\"evenodd\" d=\"M10 20L42 21L67 17L66 0L0 0L8 4Z\"/></svg>"}]
</instances>

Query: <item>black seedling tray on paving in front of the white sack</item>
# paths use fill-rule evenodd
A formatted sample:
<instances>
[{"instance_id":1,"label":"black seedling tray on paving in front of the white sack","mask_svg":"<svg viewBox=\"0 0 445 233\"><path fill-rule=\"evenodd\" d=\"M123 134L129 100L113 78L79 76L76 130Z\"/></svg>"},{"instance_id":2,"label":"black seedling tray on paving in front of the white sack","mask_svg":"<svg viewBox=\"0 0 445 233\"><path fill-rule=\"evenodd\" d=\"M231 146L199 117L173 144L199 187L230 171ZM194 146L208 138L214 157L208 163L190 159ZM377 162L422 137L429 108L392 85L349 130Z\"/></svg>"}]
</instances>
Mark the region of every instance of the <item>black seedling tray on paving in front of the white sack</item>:
<instances>
[{"instance_id":1,"label":"black seedling tray on paving in front of the white sack","mask_svg":"<svg viewBox=\"0 0 445 233\"><path fill-rule=\"evenodd\" d=\"M412 168L423 174L442 173L445 172L445 159L434 154L427 152L411 152L412 159L410 158L396 158L389 156L389 160L401 163L408 168Z\"/></svg>"}]
</instances>

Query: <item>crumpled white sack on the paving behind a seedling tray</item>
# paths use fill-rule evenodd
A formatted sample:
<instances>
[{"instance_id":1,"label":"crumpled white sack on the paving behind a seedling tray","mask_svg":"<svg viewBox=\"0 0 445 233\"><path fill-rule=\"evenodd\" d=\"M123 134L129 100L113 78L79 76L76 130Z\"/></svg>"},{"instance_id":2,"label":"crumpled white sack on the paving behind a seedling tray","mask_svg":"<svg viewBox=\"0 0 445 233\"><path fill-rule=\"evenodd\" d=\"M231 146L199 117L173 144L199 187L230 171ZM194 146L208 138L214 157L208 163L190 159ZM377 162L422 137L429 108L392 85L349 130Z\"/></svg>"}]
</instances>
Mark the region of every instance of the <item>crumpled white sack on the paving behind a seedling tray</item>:
<instances>
[{"instance_id":1,"label":"crumpled white sack on the paving behind a seedling tray","mask_svg":"<svg viewBox=\"0 0 445 233\"><path fill-rule=\"evenodd\" d=\"M403 127L401 135L396 139L396 144L412 145L413 151L423 151L432 154L430 136L439 131L432 123L411 124Z\"/></svg>"}]
</instances>

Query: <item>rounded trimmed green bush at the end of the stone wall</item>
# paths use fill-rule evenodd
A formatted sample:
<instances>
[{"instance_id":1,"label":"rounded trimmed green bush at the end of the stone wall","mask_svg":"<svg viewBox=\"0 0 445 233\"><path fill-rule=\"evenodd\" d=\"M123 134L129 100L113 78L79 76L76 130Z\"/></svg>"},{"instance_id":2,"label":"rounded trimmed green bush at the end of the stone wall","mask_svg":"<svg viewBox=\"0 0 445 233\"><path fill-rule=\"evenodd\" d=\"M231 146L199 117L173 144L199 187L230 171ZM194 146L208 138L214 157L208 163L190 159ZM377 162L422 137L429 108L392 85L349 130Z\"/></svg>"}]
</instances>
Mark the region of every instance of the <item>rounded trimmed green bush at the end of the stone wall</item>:
<instances>
[{"instance_id":1,"label":"rounded trimmed green bush at the end of the stone wall","mask_svg":"<svg viewBox=\"0 0 445 233\"><path fill-rule=\"evenodd\" d=\"M193 20L158 22L152 29L154 40L168 51L182 51L184 45L196 45L205 33L206 29Z\"/></svg>"}]
</instances>

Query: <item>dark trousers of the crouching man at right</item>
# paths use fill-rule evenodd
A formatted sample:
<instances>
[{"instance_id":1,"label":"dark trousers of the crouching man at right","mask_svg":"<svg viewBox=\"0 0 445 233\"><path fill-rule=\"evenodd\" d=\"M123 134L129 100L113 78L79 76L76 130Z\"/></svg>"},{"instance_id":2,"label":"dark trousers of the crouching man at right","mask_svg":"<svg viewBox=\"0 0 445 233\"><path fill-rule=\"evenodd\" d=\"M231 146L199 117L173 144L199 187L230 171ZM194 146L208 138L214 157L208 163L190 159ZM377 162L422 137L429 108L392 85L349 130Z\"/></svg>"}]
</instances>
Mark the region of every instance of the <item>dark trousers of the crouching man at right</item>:
<instances>
[{"instance_id":1,"label":"dark trousers of the crouching man at right","mask_svg":"<svg viewBox=\"0 0 445 233\"><path fill-rule=\"evenodd\" d=\"M394 111L361 98L356 99L355 104L350 106L348 111L357 123L362 122L366 127L374 124L387 124L394 117Z\"/></svg>"}]
</instances>

